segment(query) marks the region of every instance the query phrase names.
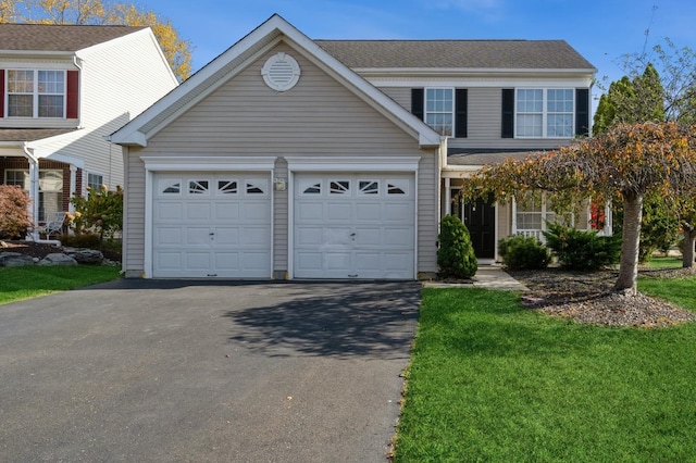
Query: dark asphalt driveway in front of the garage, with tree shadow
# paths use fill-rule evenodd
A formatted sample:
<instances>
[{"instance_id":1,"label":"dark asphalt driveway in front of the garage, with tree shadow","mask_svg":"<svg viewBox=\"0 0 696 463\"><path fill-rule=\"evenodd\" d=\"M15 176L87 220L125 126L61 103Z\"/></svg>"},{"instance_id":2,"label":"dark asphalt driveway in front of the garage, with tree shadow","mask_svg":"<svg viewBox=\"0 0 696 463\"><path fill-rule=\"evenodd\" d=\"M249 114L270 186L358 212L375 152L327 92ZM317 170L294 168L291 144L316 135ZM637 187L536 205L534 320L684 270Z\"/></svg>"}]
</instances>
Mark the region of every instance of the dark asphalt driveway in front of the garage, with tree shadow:
<instances>
[{"instance_id":1,"label":"dark asphalt driveway in front of the garage, with tree shadow","mask_svg":"<svg viewBox=\"0 0 696 463\"><path fill-rule=\"evenodd\" d=\"M419 302L130 279L0 305L0 460L384 462Z\"/></svg>"}]
</instances>

